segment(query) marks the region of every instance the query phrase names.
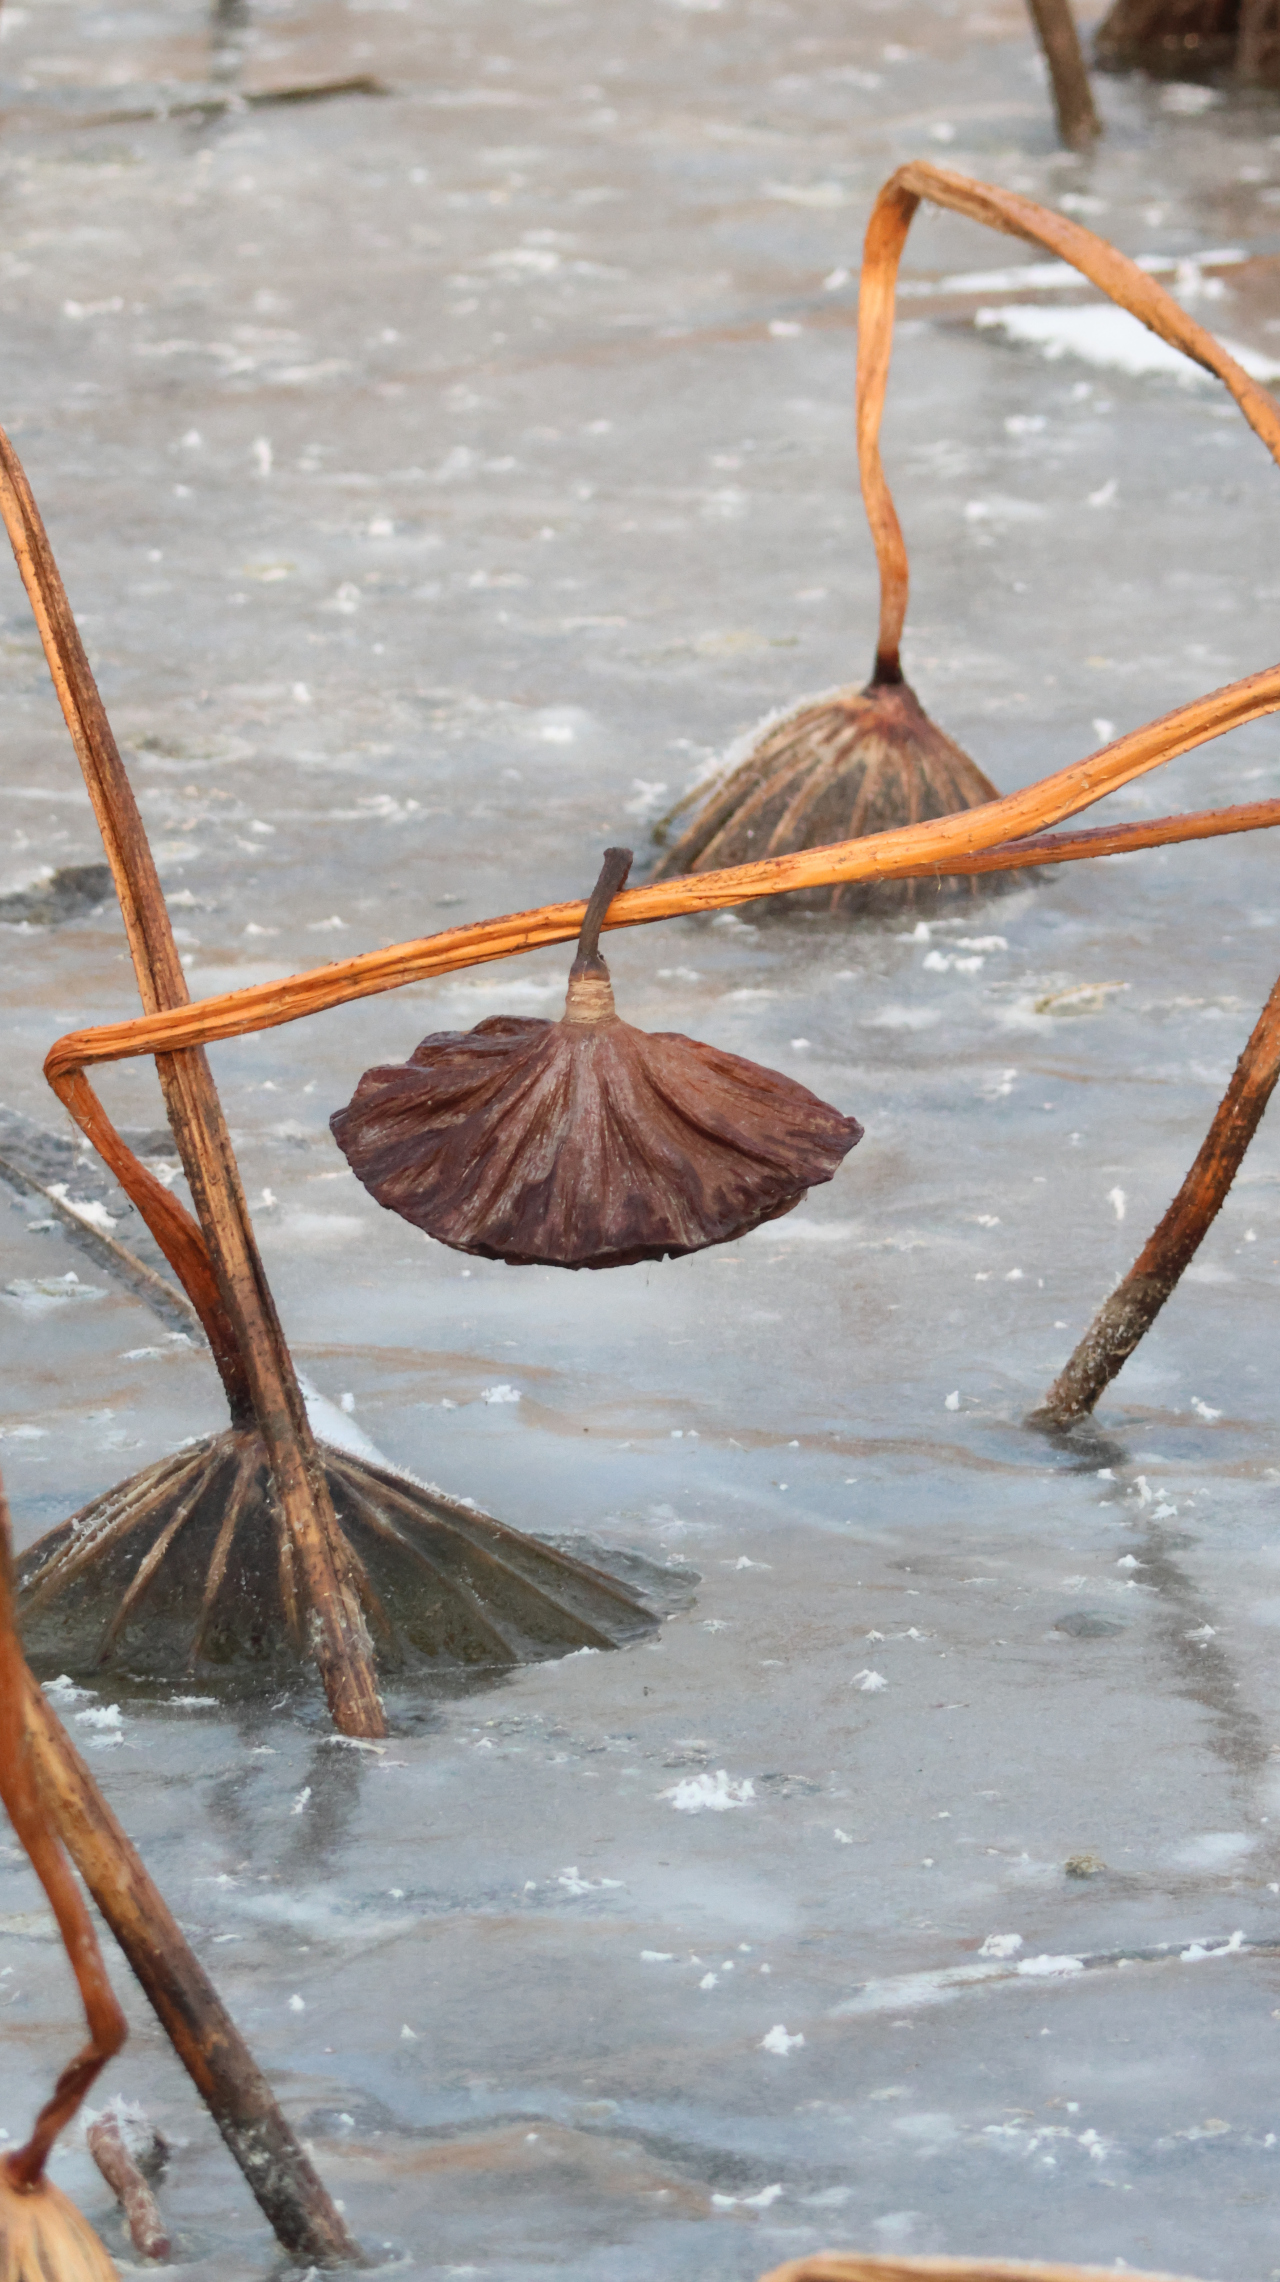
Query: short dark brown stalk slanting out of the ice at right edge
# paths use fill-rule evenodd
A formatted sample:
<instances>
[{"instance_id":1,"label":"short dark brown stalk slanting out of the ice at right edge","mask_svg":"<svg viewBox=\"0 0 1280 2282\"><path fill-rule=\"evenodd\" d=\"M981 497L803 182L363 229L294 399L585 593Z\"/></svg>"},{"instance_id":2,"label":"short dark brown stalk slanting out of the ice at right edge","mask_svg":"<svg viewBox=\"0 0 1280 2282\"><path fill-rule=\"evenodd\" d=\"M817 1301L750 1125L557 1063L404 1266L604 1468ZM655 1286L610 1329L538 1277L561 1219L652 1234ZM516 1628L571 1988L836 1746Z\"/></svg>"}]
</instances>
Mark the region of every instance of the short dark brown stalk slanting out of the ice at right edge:
<instances>
[{"instance_id":1,"label":"short dark brown stalk slanting out of the ice at right edge","mask_svg":"<svg viewBox=\"0 0 1280 2282\"><path fill-rule=\"evenodd\" d=\"M1214 1225L1278 1077L1280 981L1255 1022L1196 1164L1173 1205L1143 1244L1129 1273L1102 1301L1070 1362L1054 1378L1040 1408L1031 1413L1031 1426L1072 1426L1093 1410L1116 1371L1125 1367Z\"/></svg>"}]
</instances>

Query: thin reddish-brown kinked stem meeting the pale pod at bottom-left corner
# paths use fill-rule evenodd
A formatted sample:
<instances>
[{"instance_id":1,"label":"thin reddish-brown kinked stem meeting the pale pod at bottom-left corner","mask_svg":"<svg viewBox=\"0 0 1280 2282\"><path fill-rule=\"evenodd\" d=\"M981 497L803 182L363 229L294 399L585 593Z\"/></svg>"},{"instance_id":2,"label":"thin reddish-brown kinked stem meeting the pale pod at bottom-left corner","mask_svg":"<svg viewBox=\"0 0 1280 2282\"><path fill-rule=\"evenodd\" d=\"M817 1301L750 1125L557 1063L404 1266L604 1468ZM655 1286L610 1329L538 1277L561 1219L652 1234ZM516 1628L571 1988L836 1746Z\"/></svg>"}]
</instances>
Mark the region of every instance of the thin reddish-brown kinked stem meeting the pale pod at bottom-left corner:
<instances>
[{"instance_id":1,"label":"thin reddish-brown kinked stem meeting the pale pod at bottom-left corner","mask_svg":"<svg viewBox=\"0 0 1280 2282\"><path fill-rule=\"evenodd\" d=\"M25 1691L27 1666L23 1661L18 1627L14 1623L9 1506L5 1502L5 1490L0 1488L0 1798L5 1800L16 1837L21 1839L39 1883L50 1899L52 1915L57 1917L57 1931L62 1933L62 1944L80 1985L84 2017L89 2022L89 2042L84 2045L84 2052L78 2052L75 2058L62 2070L52 2088L52 2097L46 2099L34 2120L27 2145L18 2147L2 2161L9 2186L16 2186L18 2191L39 2186L57 2134L71 2122L75 2109L84 2099L84 2093L94 2083L94 2077L121 2049L128 2036L123 2010L116 2001L112 1983L107 1981L107 1967L103 1965L103 1951L98 1949L94 1921L84 1908L80 1887L71 1876L71 1864L66 1862L66 1855L46 1821L27 1737Z\"/></svg>"}]
</instances>

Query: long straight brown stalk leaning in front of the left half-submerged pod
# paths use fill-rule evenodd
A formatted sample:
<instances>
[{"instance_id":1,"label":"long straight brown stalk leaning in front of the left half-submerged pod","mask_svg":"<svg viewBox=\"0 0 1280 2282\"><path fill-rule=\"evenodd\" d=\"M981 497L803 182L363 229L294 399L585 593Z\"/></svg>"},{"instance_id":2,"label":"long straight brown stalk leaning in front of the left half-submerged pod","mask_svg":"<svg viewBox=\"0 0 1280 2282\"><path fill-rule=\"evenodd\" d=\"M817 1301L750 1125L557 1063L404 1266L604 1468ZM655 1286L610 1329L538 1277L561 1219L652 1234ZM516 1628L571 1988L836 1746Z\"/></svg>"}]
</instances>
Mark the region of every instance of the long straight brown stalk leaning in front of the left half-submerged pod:
<instances>
[{"instance_id":1,"label":"long straight brown stalk leaning in front of the left half-submerged pod","mask_svg":"<svg viewBox=\"0 0 1280 2282\"><path fill-rule=\"evenodd\" d=\"M137 988L148 1011L187 1004L160 876L71 602L21 461L0 431L0 511L39 625L121 899ZM272 1460L278 1527L299 1579L299 1636L345 1734L386 1734L354 1568L308 1426L290 1351L253 1239L240 1168L203 1052L160 1054L157 1075L201 1230L148 1182L146 1219L178 1269L219 1365L233 1426L258 1422Z\"/></svg>"}]
</instances>

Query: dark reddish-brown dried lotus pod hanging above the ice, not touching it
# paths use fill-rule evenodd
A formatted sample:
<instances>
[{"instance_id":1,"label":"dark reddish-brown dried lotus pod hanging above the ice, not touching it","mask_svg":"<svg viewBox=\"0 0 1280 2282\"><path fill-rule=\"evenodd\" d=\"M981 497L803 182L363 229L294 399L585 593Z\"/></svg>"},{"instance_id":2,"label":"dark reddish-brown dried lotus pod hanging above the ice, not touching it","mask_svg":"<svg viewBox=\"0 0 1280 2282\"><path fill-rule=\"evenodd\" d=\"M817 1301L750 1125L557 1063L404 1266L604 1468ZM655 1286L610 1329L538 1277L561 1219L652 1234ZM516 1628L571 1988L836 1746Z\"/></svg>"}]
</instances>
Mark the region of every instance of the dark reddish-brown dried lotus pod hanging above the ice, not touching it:
<instances>
[{"instance_id":1,"label":"dark reddish-brown dried lotus pod hanging above the ice, not touching it","mask_svg":"<svg viewBox=\"0 0 1280 2282\"><path fill-rule=\"evenodd\" d=\"M509 1267L616 1269L728 1244L799 1205L862 1139L778 1070L614 1009L609 849L559 1022L495 1015L365 1070L329 1123L370 1196Z\"/></svg>"}]
</instances>

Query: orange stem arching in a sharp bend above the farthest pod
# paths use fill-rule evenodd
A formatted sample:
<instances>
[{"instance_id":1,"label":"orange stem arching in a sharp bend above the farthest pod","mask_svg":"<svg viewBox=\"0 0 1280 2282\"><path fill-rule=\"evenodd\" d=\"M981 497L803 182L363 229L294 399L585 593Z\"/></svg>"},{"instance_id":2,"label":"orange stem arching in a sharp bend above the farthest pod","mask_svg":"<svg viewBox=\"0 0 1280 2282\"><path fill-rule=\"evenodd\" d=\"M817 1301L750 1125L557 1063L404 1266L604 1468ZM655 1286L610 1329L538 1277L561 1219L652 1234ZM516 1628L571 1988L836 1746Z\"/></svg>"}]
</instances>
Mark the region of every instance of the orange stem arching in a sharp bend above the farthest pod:
<instances>
[{"instance_id":1,"label":"orange stem arching in a sharp bend above the farthest pod","mask_svg":"<svg viewBox=\"0 0 1280 2282\"><path fill-rule=\"evenodd\" d=\"M892 502L885 470L881 466L881 413L885 408L885 386L890 377L890 351L894 338L894 288L897 265L922 199L947 205L970 221L986 221L990 230L1006 237L1024 237L1031 246L1045 246L1072 269L1097 285L1111 301L1127 308L1152 333L1182 349L1205 372L1216 374L1230 388L1250 429L1262 436L1271 459L1280 461L1280 406L1266 388L1250 381L1243 365L1228 356L1223 345L1196 324L1173 294L1139 269L1127 253L1118 253L1104 237L1086 230L1066 215L1054 215L1034 199L1022 199L1013 189L995 189L990 183L974 183L970 176L951 173L947 167L931 167L913 160L899 167L881 189L867 237L862 244L862 283L858 288L858 470L862 475L862 504L876 561L881 568L881 632L876 641L876 682L901 682L901 625L906 618L908 561L906 541Z\"/></svg>"}]
</instances>

